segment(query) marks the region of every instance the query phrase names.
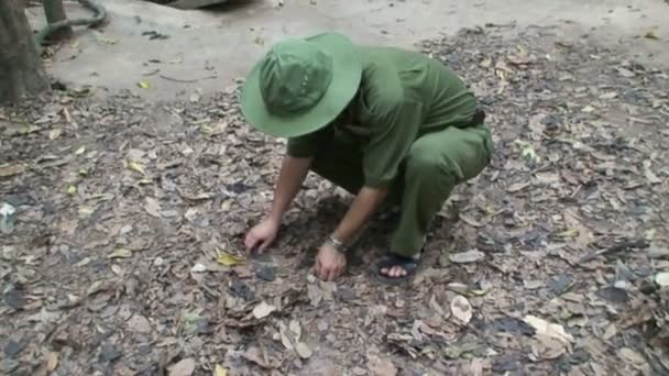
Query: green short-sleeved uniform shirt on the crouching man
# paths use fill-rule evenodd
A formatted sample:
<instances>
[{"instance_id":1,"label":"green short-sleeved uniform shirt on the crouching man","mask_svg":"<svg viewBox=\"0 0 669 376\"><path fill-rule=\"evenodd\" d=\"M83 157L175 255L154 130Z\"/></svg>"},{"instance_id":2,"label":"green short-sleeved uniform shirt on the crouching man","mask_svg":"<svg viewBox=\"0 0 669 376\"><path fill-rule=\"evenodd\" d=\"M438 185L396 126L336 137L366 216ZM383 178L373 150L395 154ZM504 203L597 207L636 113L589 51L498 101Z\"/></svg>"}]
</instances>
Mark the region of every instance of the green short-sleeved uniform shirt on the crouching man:
<instances>
[{"instance_id":1,"label":"green short-sleeved uniform shirt on the crouching man","mask_svg":"<svg viewBox=\"0 0 669 376\"><path fill-rule=\"evenodd\" d=\"M386 187L420 135L469 123L476 101L442 63L394 47L360 47L362 80L349 106L352 124L334 121L288 140L294 157L317 156L332 136L351 137L362 148L365 186ZM342 151L346 153L346 151Z\"/></svg>"}]
</instances>

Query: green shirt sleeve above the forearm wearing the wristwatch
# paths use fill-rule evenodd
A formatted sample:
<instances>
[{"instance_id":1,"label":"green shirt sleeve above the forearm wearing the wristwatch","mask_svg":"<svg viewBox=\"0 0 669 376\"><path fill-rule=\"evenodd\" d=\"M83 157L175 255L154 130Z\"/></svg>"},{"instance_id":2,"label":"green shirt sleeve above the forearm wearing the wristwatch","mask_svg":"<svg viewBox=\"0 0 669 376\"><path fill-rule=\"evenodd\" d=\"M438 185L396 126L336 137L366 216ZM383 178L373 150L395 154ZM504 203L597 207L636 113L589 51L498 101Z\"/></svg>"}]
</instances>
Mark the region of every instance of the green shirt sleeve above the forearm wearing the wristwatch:
<instances>
[{"instance_id":1,"label":"green shirt sleeve above the forearm wearing the wristwatch","mask_svg":"<svg viewBox=\"0 0 669 376\"><path fill-rule=\"evenodd\" d=\"M364 151L365 186L387 187L397 176L421 121L421 104L404 100L375 117L372 135Z\"/></svg>"}]
</instances>

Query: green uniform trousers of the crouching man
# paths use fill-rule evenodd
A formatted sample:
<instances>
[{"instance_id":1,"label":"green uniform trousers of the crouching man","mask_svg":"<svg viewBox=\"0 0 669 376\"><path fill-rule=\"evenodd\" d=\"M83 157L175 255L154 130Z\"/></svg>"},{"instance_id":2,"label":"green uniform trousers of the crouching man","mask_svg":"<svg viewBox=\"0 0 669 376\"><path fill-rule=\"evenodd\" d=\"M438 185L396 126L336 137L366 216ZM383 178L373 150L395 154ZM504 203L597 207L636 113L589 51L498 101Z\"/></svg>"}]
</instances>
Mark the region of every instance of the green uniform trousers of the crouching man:
<instances>
[{"instance_id":1,"label":"green uniform trousers of the crouching man","mask_svg":"<svg viewBox=\"0 0 669 376\"><path fill-rule=\"evenodd\" d=\"M491 131L484 124L450 126L418 137L384 203L401 209L391 252L403 256L418 253L453 187L479 175L493 152ZM327 150L315 156L311 170L355 195L364 184L362 147L354 137L336 132Z\"/></svg>"}]
</instances>

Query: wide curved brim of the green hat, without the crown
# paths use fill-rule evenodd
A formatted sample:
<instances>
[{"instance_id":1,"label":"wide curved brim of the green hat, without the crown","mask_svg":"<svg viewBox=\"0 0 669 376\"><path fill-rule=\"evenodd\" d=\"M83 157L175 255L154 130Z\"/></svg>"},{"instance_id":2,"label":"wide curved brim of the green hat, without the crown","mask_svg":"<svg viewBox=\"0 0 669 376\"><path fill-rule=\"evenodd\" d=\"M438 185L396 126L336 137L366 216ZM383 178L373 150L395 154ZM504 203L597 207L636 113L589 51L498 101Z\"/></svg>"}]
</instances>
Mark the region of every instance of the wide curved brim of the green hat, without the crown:
<instances>
[{"instance_id":1,"label":"wide curved brim of the green hat, without the crown","mask_svg":"<svg viewBox=\"0 0 669 376\"><path fill-rule=\"evenodd\" d=\"M306 41L317 44L332 57L332 80L325 95L314 108L299 115L270 113L260 90L260 64L256 64L241 91L242 114L251 126L277 137L311 133L333 121L358 91L362 63L358 49L346 35L323 33Z\"/></svg>"}]
</instances>

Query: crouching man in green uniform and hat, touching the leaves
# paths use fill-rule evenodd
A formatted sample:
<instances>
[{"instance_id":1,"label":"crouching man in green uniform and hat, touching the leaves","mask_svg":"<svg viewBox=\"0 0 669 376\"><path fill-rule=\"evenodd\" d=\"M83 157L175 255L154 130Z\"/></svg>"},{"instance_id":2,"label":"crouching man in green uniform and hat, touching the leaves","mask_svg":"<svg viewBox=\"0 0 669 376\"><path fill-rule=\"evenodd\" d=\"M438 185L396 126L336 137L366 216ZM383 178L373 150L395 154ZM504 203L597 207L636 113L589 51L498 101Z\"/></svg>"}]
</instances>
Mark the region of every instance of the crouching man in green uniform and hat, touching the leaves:
<instances>
[{"instance_id":1,"label":"crouching man in green uniform and hat, touching the leaves","mask_svg":"<svg viewBox=\"0 0 669 376\"><path fill-rule=\"evenodd\" d=\"M344 272L348 245L381 206L393 204L399 221L376 274L407 279L453 187L479 175L493 153L474 96L450 69L339 33L275 44L246 78L241 108L252 126L288 139L272 209L246 234L250 252L275 240L309 170L355 195L318 252L315 273L323 280Z\"/></svg>"}]
</instances>

